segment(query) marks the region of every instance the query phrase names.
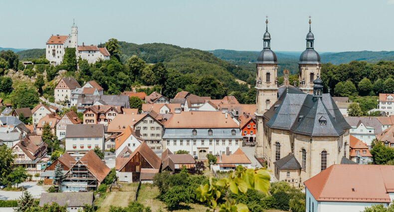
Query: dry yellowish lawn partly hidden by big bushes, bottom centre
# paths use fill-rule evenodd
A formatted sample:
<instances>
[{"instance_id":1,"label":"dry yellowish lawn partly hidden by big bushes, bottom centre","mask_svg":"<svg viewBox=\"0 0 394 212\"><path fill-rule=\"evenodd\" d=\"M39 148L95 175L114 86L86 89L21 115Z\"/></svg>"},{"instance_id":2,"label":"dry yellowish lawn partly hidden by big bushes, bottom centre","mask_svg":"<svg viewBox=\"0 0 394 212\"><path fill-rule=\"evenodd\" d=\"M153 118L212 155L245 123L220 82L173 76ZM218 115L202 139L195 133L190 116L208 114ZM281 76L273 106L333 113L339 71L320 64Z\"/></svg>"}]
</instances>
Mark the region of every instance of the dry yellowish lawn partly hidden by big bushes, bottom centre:
<instances>
[{"instance_id":1,"label":"dry yellowish lawn partly hidden by big bushes, bottom centre","mask_svg":"<svg viewBox=\"0 0 394 212\"><path fill-rule=\"evenodd\" d=\"M164 212L168 212L166 205L157 199L159 196L159 189L155 186L149 186L142 184L138 194L137 202L143 204L145 207L150 206L152 211L155 212L159 208L162 208ZM199 204L189 204L184 207L185 209L176 210L172 212L206 212L207 207Z\"/></svg>"}]
</instances>

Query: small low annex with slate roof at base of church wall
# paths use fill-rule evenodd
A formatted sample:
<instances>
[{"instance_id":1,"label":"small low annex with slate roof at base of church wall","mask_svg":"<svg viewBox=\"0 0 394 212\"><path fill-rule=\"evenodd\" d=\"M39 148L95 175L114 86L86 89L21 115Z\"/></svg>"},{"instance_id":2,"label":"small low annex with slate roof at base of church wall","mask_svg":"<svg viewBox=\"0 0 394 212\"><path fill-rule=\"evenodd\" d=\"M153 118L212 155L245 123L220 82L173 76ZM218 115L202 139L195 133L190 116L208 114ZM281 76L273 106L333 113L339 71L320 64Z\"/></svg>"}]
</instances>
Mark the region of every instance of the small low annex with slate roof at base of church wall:
<instances>
[{"instance_id":1,"label":"small low annex with slate roof at base of church wall","mask_svg":"<svg viewBox=\"0 0 394 212\"><path fill-rule=\"evenodd\" d=\"M275 165L275 178L277 181L284 181L292 186L298 186L301 181L301 165L294 157L293 153L274 162Z\"/></svg>"}]
</instances>

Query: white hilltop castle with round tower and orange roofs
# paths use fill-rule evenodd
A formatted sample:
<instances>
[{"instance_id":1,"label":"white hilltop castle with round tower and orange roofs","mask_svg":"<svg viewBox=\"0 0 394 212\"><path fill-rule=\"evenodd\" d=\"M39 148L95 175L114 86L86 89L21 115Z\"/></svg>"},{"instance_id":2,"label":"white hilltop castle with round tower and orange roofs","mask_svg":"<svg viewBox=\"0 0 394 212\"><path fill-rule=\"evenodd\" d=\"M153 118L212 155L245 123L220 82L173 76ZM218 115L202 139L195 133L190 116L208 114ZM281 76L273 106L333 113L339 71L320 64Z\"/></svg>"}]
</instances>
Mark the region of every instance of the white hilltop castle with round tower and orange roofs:
<instances>
[{"instance_id":1,"label":"white hilltop castle with round tower and orange roofs","mask_svg":"<svg viewBox=\"0 0 394 212\"><path fill-rule=\"evenodd\" d=\"M53 35L46 42L45 58L51 64L59 65L63 62L66 48L75 48L77 59L81 57L89 63L95 63L99 58L110 59L110 53L107 48L98 48L95 45L86 45L82 43L78 46L78 27L73 23L71 26L71 34L69 35Z\"/></svg>"}]
</instances>

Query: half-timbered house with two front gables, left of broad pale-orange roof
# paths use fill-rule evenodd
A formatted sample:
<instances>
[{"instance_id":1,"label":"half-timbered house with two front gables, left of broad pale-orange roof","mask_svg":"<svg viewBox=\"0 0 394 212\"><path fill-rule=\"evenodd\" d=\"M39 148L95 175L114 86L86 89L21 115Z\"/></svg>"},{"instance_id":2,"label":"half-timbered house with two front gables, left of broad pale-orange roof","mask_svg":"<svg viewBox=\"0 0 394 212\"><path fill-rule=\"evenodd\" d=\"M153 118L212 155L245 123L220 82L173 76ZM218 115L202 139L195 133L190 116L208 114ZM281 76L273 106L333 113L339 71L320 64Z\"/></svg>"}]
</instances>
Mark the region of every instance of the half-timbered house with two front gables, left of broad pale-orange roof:
<instances>
[{"instance_id":1,"label":"half-timbered house with two front gables, left of broad pale-orange roof","mask_svg":"<svg viewBox=\"0 0 394 212\"><path fill-rule=\"evenodd\" d=\"M108 125L118 114L122 114L121 106L93 105L83 111L83 123Z\"/></svg>"}]
</instances>

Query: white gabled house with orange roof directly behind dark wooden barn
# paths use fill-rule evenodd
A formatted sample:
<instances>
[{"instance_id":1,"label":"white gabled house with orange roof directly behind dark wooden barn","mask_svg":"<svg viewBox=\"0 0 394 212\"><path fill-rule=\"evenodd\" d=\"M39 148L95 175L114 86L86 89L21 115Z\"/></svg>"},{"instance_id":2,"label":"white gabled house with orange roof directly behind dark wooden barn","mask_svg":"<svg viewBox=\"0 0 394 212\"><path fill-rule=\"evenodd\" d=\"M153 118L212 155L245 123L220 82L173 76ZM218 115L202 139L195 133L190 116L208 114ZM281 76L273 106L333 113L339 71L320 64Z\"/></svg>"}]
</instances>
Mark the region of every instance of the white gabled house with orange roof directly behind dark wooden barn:
<instances>
[{"instance_id":1,"label":"white gabled house with orange roof directly behind dark wooden barn","mask_svg":"<svg viewBox=\"0 0 394 212\"><path fill-rule=\"evenodd\" d=\"M115 156L118 157L125 147L128 147L134 152L141 143L144 143L144 140L141 139L130 126L126 126L123 132L115 139Z\"/></svg>"}]
</instances>

